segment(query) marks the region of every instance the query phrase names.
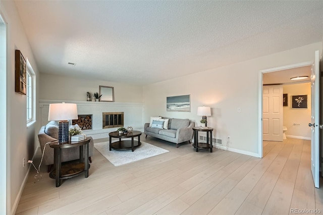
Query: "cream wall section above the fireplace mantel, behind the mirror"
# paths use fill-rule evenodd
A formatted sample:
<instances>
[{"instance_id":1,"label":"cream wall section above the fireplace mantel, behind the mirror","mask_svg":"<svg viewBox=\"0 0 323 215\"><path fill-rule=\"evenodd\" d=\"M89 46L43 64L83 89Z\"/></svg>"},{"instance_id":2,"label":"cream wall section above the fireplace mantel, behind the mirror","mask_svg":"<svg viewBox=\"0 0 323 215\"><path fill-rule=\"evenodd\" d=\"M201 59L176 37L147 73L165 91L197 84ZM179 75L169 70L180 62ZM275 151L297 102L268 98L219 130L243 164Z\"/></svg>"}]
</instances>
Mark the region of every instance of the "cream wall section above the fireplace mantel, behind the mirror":
<instances>
[{"instance_id":1,"label":"cream wall section above the fireplace mantel, behind the mirror","mask_svg":"<svg viewBox=\"0 0 323 215\"><path fill-rule=\"evenodd\" d=\"M99 92L100 85L114 87L115 102L142 102L142 86L46 73L40 74L39 99L86 101L86 92Z\"/></svg>"}]
</instances>

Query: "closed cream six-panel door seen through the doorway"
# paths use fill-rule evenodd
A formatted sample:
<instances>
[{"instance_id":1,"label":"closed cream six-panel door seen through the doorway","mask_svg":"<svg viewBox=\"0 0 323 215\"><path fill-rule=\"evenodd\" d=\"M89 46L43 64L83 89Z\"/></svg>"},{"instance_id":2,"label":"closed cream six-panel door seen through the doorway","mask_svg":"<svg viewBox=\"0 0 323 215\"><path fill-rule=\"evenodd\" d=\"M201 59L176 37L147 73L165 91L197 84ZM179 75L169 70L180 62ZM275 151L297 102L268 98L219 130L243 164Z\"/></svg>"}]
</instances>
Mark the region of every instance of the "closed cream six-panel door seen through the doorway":
<instances>
[{"instance_id":1,"label":"closed cream six-panel door seen through the doorway","mask_svg":"<svg viewBox=\"0 0 323 215\"><path fill-rule=\"evenodd\" d=\"M262 87L262 139L283 141L283 86Z\"/></svg>"}]
</instances>

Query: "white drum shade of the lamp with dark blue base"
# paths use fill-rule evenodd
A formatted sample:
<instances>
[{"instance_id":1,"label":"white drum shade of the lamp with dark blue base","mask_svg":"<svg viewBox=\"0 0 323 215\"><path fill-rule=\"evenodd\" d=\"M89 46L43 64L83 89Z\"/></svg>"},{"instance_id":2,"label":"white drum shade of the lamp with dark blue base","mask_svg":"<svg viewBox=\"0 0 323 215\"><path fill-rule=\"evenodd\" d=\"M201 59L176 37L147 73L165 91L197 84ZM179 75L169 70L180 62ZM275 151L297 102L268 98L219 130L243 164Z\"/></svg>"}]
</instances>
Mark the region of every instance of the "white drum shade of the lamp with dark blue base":
<instances>
[{"instance_id":1,"label":"white drum shade of the lamp with dark blue base","mask_svg":"<svg viewBox=\"0 0 323 215\"><path fill-rule=\"evenodd\" d=\"M76 120L77 106L72 103L54 103L49 104L48 121L55 120Z\"/></svg>"}]
</instances>

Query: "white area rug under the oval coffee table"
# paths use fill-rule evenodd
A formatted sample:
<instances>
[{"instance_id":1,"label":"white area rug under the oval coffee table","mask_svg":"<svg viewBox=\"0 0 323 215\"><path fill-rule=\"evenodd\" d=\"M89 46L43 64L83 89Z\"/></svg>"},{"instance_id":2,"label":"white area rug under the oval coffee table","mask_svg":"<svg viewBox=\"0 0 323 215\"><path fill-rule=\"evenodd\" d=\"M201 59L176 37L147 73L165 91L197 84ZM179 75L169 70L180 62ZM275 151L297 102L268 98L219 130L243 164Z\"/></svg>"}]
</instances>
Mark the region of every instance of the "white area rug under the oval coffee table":
<instances>
[{"instance_id":1,"label":"white area rug under the oval coffee table","mask_svg":"<svg viewBox=\"0 0 323 215\"><path fill-rule=\"evenodd\" d=\"M116 142L116 141L113 141L113 142ZM109 160L116 167L120 165L129 164L137 160L156 156L158 154L169 152L166 149L159 148L149 143L146 143L143 141L140 141L140 142L141 142L141 146L139 146L138 148L135 148L134 151L131 151L131 149L129 150L112 149L111 151L109 151L109 141L94 143L94 148L96 148L107 160Z\"/></svg>"}]
</instances>

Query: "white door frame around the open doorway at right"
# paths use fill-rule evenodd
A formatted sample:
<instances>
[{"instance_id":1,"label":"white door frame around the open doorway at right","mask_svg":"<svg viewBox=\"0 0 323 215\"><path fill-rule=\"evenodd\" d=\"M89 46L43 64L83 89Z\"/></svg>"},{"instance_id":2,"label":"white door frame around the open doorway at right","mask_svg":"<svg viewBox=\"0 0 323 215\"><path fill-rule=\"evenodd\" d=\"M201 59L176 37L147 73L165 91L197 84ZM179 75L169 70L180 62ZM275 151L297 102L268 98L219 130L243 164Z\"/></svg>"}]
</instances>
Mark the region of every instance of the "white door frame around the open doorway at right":
<instances>
[{"instance_id":1,"label":"white door frame around the open doorway at right","mask_svg":"<svg viewBox=\"0 0 323 215\"><path fill-rule=\"evenodd\" d=\"M264 73L277 72L280 70L294 69L298 67L311 66L312 61L302 62L298 64L291 64L282 67L275 67L271 69L260 70L258 73L258 157L263 157L262 148L262 75Z\"/></svg>"}]
</instances>

